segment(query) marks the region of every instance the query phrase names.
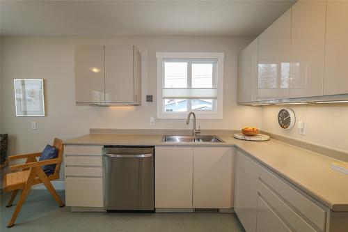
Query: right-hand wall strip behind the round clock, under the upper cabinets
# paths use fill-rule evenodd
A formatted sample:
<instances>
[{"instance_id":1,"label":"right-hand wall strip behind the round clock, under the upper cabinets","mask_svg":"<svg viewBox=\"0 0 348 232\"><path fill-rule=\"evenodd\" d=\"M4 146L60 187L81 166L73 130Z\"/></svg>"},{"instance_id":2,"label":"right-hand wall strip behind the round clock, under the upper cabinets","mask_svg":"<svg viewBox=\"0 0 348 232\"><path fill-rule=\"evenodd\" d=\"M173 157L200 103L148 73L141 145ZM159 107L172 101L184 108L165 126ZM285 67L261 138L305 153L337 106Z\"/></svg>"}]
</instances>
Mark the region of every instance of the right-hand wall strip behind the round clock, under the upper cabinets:
<instances>
[{"instance_id":1,"label":"right-hand wall strip behind the round clock, under the upper cabinets","mask_svg":"<svg viewBox=\"0 0 348 232\"><path fill-rule=\"evenodd\" d=\"M348 151L348 105L292 105L296 122L306 123L306 135L299 134L297 123L292 130L278 125L280 106L262 107L262 130L300 139L336 150Z\"/></svg>"}]
</instances>

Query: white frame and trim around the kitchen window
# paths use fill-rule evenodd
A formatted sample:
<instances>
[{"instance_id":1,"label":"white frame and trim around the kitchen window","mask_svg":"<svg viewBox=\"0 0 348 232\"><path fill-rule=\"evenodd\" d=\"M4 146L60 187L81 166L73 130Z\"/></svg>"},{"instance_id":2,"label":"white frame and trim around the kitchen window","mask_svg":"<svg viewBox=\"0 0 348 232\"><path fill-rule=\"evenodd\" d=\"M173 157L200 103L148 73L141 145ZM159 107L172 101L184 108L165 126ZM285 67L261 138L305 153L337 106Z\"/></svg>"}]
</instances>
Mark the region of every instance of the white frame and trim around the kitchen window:
<instances>
[{"instance_id":1,"label":"white frame and trim around the kitchen window","mask_svg":"<svg viewBox=\"0 0 348 232\"><path fill-rule=\"evenodd\" d=\"M224 52L156 52L157 58L157 118L187 118L188 112L164 112L164 61L166 59L216 60L216 111L194 111L200 119L223 118L223 59Z\"/></svg>"}]
</instances>

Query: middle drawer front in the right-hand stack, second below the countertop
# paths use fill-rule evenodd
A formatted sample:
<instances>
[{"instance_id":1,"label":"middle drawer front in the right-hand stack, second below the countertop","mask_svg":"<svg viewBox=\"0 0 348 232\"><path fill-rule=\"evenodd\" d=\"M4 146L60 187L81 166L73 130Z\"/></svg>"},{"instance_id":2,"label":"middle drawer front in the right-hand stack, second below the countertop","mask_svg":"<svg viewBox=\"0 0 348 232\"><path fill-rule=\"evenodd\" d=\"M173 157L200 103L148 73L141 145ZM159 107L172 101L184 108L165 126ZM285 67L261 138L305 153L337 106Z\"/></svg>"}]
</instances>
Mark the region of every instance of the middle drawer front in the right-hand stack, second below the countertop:
<instances>
[{"instance_id":1,"label":"middle drawer front in the right-hand stack, second below the countertop","mask_svg":"<svg viewBox=\"0 0 348 232\"><path fill-rule=\"evenodd\" d=\"M278 212L278 215L283 217L293 228L294 231L315 232L312 226L304 221L294 210L289 208L274 192L272 192L264 183L259 181L258 192L269 205Z\"/></svg>"}]
</instances>

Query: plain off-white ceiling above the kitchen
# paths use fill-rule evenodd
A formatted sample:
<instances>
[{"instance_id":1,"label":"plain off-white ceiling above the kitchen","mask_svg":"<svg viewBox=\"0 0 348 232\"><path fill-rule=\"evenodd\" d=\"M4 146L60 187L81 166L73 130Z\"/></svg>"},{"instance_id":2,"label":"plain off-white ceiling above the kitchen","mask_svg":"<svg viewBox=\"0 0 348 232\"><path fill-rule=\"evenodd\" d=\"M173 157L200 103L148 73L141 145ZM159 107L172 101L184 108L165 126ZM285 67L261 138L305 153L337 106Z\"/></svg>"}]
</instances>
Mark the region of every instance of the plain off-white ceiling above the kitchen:
<instances>
[{"instance_id":1,"label":"plain off-white ceiling above the kitchen","mask_svg":"<svg viewBox=\"0 0 348 232\"><path fill-rule=\"evenodd\" d=\"M0 1L3 36L258 36L294 0Z\"/></svg>"}]
</instances>

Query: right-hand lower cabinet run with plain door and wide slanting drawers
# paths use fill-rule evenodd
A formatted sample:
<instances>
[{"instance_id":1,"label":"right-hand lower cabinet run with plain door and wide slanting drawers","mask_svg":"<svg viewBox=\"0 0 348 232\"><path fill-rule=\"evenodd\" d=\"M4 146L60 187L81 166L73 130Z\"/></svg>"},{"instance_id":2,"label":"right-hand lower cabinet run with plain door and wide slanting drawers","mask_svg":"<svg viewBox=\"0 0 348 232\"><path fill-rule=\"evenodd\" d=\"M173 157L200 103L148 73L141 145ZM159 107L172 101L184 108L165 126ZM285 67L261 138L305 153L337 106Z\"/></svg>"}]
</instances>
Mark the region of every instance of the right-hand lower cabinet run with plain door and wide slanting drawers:
<instances>
[{"instance_id":1,"label":"right-hand lower cabinet run with plain door and wide slanting drawers","mask_svg":"<svg viewBox=\"0 0 348 232\"><path fill-rule=\"evenodd\" d=\"M235 212L246 231L329 231L329 208L239 151Z\"/></svg>"}]
</instances>

